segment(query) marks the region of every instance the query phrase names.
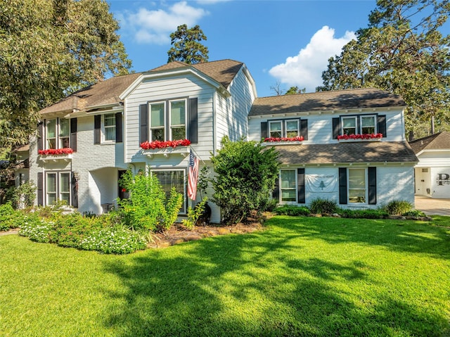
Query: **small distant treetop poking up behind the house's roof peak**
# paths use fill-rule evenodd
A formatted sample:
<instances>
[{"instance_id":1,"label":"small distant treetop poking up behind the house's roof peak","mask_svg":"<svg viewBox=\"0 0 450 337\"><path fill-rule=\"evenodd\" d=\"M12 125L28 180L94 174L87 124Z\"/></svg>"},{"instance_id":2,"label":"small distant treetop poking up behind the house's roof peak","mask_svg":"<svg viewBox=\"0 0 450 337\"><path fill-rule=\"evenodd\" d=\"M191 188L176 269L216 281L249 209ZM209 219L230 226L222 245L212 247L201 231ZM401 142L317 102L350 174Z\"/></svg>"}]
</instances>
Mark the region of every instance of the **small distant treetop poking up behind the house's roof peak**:
<instances>
[{"instance_id":1,"label":"small distant treetop poking up behind the house's roof peak","mask_svg":"<svg viewBox=\"0 0 450 337\"><path fill-rule=\"evenodd\" d=\"M181 61L188 64L208 61L208 49L200 43L207 40L199 25L188 29L187 25L179 25L176 32L170 34L172 48L167 51L167 63Z\"/></svg>"}]
</instances>

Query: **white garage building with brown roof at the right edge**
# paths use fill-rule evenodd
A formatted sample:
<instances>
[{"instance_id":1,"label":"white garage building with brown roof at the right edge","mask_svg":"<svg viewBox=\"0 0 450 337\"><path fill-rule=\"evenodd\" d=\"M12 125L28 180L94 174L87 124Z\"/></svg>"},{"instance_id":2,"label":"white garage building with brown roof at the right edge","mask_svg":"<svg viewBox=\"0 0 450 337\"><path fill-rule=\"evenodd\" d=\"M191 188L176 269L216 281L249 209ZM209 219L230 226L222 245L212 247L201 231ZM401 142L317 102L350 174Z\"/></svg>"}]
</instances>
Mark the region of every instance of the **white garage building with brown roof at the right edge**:
<instances>
[{"instance_id":1,"label":"white garage building with brown roof at the right edge","mask_svg":"<svg viewBox=\"0 0 450 337\"><path fill-rule=\"evenodd\" d=\"M416 194L450 198L450 132L409 142L419 160L415 167Z\"/></svg>"}]
</instances>

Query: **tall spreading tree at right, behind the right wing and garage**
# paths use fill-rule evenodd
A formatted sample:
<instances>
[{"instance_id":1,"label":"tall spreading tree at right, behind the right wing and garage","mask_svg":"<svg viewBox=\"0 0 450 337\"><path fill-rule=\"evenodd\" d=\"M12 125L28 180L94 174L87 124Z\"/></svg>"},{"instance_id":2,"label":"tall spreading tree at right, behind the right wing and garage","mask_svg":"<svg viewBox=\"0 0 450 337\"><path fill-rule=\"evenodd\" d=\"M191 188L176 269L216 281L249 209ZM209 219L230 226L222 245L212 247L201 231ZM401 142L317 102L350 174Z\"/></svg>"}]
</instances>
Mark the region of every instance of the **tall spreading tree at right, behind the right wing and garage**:
<instances>
[{"instance_id":1,"label":"tall spreading tree at right, behind the right wing and garage","mask_svg":"<svg viewBox=\"0 0 450 337\"><path fill-rule=\"evenodd\" d=\"M404 98L407 132L434 132L433 120L448 127L450 36L439 28L449 13L448 0L378 0L368 27L330 58L317 90L385 89Z\"/></svg>"}]
</instances>

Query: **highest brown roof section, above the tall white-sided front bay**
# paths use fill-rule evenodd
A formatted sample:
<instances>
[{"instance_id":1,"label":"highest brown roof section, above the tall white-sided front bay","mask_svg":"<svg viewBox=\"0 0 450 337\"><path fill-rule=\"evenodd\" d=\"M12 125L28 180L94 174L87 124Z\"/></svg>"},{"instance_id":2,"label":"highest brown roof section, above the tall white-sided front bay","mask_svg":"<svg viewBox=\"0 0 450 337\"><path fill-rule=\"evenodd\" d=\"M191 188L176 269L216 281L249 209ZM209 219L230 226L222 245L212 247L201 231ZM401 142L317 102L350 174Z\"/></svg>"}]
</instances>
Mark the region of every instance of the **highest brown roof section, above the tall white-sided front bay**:
<instances>
[{"instance_id":1,"label":"highest brown roof section, above the tall white-sided front bay","mask_svg":"<svg viewBox=\"0 0 450 337\"><path fill-rule=\"evenodd\" d=\"M178 68L195 68L200 72L203 72L205 75L211 77L213 80L216 80L220 84L222 84L225 88L228 88L233 81L233 78L236 77L236 74L242 68L244 63L233 61L233 60L221 60L221 61L212 61L205 63L197 63L197 64L187 64L180 61L174 61L171 63L167 63L166 65L162 65L158 68L150 70L150 72L157 72L162 70L172 70Z\"/></svg>"}]
</instances>

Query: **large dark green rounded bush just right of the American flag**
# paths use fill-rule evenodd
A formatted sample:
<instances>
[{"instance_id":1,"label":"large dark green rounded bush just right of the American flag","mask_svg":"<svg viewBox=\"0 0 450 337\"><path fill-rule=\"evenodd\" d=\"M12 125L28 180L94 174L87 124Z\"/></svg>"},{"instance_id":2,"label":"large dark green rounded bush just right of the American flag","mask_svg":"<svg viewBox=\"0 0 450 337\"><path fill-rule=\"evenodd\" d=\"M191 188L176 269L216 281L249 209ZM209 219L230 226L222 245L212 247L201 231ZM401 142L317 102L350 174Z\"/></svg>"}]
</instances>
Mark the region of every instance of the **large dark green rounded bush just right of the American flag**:
<instances>
[{"instance_id":1,"label":"large dark green rounded bush just right of the American flag","mask_svg":"<svg viewBox=\"0 0 450 337\"><path fill-rule=\"evenodd\" d=\"M212 201L222 211L226 224L236 224L252 210L264 208L278 177L278 153L256 141L230 141L224 137L213 155L215 176Z\"/></svg>"}]
</instances>

